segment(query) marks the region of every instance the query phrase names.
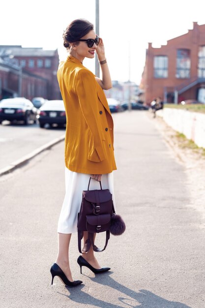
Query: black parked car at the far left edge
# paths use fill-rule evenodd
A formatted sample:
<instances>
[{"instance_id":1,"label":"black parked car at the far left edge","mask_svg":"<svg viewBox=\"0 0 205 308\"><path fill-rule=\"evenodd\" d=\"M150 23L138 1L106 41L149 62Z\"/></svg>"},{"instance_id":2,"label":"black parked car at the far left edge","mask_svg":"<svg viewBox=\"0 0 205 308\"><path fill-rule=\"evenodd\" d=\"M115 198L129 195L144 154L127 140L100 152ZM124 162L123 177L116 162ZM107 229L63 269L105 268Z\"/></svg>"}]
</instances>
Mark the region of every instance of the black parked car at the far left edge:
<instances>
[{"instance_id":1,"label":"black parked car at the far left edge","mask_svg":"<svg viewBox=\"0 0 205 308\"><path fill-rule=\"evenodd\" d=\"M26 125L30 120L36 123L37 109L25 97L6 98L0 101L0 123L4 120L24 121Z\"/></svg>"}]
</instances>

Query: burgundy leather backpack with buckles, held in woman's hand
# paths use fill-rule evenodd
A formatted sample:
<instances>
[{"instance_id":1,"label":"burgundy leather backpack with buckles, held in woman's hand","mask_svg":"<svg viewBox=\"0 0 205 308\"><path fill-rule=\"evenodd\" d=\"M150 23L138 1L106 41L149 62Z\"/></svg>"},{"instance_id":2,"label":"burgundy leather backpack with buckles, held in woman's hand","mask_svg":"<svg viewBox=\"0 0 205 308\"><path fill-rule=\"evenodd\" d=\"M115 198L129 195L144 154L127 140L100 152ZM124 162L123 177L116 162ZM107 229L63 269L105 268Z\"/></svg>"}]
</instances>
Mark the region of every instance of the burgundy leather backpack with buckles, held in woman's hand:
<instances>
[{"instance_id":1,"label":"burgundy leather backpack with buckles, held in woman's hand","mask_svg":"<svg viewBox=\"0 0 205 308\"><path fill-rule=\"evenodd\" d=\"M78 249L79 252L88 252L90 246L93 250L100 252L105 250L110 238L111 216L115 213L112 194L109 189L94 189L83 191L80 212L78 214ZM88 240L81 250L81 240L84 231L88 231ZM106 231L106 242L104 248L98 248L94 245L93 234Z\"/></svg>"}]
</instances>

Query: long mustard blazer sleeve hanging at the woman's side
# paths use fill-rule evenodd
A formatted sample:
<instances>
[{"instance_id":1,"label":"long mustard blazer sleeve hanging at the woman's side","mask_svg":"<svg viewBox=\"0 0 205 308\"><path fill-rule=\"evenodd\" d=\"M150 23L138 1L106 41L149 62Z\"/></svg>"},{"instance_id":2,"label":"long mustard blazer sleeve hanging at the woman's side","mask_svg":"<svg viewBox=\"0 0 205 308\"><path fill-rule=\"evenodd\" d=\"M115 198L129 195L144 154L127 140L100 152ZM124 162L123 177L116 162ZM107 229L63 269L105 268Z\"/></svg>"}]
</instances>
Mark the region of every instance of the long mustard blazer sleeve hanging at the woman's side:
<instances>
[{"instance_id":1,"label":"long mustard blazer sleeve hanging at the woman's side","mask_svg":"<svg viewBox=\"0 0 205 308\"><path fill-rule=\"evenodd\" d=\"M98 96L96 81L94 75L86 69L81 69L77 73L76 93L91 134L90 140L88 140L90 147L88 159L95 162L102 161L105 159L105 153L102 143L101 127L99 121L97 121Z\"/></svg>"}]
</instances>

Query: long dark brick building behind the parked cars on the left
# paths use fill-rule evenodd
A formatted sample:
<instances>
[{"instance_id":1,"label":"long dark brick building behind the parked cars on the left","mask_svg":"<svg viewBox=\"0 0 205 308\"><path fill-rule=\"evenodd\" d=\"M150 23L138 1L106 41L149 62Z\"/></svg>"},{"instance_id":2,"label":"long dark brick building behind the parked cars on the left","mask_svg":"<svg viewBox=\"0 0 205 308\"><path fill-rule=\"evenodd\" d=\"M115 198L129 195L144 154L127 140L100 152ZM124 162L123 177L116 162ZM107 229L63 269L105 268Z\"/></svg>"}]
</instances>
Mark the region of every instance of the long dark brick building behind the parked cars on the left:
<instances>
[{"instance_id":1,"label":"long dark brick building behind the parked cars on the left","mask_svg":"<svg viewBox=\"0 0 205 308\"><path fill-rule=\"evenodd\" d=\"M59 99L57 50L0 46L0 98Z\"/></svg>"}]
</instances>

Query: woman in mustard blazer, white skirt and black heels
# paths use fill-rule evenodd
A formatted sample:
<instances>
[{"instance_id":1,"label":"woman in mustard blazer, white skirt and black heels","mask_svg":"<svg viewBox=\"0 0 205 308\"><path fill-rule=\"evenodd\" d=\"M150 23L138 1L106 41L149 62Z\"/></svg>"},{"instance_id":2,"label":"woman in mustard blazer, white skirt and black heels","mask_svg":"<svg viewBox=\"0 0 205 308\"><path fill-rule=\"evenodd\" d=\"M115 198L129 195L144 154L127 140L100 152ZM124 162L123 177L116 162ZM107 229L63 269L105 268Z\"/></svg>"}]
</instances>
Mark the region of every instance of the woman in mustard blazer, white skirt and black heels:
<instances>
[{"instance_id":1,"label":"woman in mustard blazer, white skirt and black heels","mask_svg":"<svg viewBox=\"0 0 205 308\"><path fill-rule=\"evenodd\" d=\"M113 148L113 119L103 90L112 87L102 38L85 19L74 20L63 33L64 47L69 55L59 63L57 73L60 92L66 112L65 132L65 198L59 216L57 260L51 267L52 283L59 276L67 286L76 286L73 281L68 258L71 234L77 232L77 216L80 211L82 191L90 189L113 191L113 170L116 163ZM95 77L84 65L85 58L93 59L97 53L101 65L102 79ZM84 245L88 233L84 232ZM92 247L79 256L77 262L98 274L110 270L101 267Z\"/></svg>"}]
</instances>

